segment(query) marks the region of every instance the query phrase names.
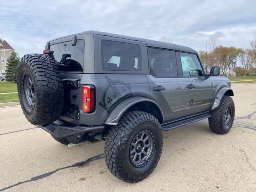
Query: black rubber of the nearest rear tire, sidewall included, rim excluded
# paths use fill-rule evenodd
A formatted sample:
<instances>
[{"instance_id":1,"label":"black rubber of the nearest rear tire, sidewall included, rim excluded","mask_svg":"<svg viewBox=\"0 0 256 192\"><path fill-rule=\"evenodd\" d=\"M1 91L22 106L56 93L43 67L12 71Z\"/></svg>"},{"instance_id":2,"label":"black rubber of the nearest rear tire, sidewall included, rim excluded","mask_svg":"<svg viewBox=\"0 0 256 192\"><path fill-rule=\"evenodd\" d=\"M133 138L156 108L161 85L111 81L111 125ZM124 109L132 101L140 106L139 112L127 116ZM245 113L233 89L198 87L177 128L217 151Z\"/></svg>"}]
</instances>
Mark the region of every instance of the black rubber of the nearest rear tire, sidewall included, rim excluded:
<instances>
[{"instance_id":1,"label":"black rubber of the nearest rear tire, sidewall included, rim excluded","mask_svg":"<svg viewBox=\"0 0 256 192\"><path fill-rule=\"evenodd\" d=\"M130 160L130 144L138 132L148 130L153 134L154 150L148 163L138 168ZM157 118L141 111L125 113L117 125L110 128L105 143L105 162L117 178L136 183L148 177L162 154L163 135Z\"/></svg>"}]
</instances>

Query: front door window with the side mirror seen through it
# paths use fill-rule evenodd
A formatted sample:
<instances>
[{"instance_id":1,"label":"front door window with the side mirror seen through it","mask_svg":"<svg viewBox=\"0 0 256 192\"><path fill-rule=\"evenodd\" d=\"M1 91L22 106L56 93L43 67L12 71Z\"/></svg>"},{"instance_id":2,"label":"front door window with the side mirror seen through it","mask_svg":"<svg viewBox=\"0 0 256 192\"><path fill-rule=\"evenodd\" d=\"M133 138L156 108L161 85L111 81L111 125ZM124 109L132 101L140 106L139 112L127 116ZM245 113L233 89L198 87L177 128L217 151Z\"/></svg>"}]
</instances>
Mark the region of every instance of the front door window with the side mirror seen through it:
<instances>
[{"instance_id":1,"label":"front door window with the side mirror seen through it","mask_svg":"<svg viewBox=\"0 0 256 192\"><path fill-rule=\"evenodd\" d=\"M184 77L203 76L202 66L196 54L180 52L180 60Z\"/></svg>"}]
</instances>

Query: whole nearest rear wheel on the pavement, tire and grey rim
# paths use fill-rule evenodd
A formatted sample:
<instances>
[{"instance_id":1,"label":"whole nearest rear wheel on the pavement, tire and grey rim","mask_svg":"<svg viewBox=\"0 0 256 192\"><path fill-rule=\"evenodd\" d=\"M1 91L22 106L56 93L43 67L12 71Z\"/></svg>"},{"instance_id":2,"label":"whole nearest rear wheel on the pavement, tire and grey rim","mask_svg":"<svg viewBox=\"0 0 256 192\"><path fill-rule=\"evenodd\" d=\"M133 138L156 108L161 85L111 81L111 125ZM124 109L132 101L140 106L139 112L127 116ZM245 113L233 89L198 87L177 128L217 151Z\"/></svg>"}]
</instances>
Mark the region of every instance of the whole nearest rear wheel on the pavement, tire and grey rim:
<instances>
[{"instance_id":1,"label":"whole nearest rear wheel on the pavement, tire and grey rim","mask_svg":"<svg viewBox=\"0 0 256 192\"><path fill-rule=\"evenodd\" d=\"M108 132L105 162L114 176L136 183L152 173L162 146L162 128L156 117L141 111L128 112Z\"/></svg>"}]
</instances>

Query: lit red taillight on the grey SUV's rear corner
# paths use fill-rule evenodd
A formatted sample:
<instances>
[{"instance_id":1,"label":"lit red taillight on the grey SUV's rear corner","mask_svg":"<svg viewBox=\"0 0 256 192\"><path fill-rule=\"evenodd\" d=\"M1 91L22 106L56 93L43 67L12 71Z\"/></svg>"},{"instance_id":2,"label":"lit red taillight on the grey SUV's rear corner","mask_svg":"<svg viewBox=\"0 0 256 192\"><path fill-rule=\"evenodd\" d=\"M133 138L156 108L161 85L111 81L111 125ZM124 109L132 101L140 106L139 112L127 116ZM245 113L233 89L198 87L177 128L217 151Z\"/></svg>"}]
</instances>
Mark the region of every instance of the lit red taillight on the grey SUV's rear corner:
<instances>
[{"instance_id":1,"label":"lit red taillight on the grey SUV's rear corner","mask_svg":"<svg viewBox=\"0 0 256 192\"><path fill-rule=\"evenodd\" d=\"M95 110L95 91L94 86L82 86L82 108L84 113L92 113Z\"/></svg>"}]
</instances>

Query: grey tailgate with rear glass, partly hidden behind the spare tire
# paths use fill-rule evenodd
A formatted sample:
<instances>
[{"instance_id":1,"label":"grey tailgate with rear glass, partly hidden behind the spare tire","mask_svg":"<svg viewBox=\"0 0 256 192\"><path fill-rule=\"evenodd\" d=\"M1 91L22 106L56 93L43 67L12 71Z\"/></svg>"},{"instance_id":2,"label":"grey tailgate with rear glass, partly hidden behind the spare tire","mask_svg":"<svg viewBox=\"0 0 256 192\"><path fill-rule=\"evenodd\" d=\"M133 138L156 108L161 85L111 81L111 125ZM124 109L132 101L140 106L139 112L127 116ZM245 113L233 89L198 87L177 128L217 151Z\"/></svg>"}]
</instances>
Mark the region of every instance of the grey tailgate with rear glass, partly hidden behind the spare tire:
<instances>
[{"instance_id":1,"label":"grey tailgate with rear glass, partly hidden behind the spare tire","mask_svg":"<svg viewBox=\"0 0 256 192\"><path fill-rule=\"evenodd\" d=\"M85 36L79 35L76 44L72 45L74 36L61 38L50 42L50 50L58 64L62 82L64 84L64 106L61 119L80 124L82 90L76 86L84 71L84 53L86 50Z\"/></svg>"}]
</instances>

